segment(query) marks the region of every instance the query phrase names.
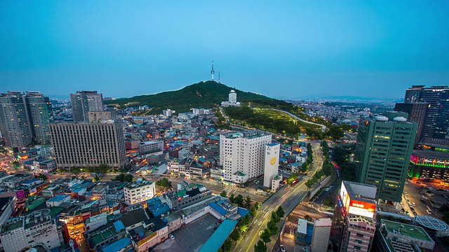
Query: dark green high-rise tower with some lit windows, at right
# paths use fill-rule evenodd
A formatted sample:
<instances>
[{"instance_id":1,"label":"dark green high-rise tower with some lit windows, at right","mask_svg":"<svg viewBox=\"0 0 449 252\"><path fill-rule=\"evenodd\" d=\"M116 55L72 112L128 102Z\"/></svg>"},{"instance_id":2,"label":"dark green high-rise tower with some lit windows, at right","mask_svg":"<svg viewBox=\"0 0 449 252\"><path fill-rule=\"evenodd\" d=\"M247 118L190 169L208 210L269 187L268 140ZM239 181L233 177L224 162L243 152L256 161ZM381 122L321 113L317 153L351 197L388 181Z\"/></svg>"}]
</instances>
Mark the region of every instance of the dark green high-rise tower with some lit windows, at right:
<instances>
[{"instance_id":1,"label":"dark green high-rise tower with some lit windows, at right","mask_svg":"<svg viewBox=\"0 0 449 252\"><path fill-rule=\"evenodd\" d=\"M361 116L354 159L356 181L376 186L377 198L391 202L401 202L417 130L398 114Z\"/></svg>"}]
</instances>

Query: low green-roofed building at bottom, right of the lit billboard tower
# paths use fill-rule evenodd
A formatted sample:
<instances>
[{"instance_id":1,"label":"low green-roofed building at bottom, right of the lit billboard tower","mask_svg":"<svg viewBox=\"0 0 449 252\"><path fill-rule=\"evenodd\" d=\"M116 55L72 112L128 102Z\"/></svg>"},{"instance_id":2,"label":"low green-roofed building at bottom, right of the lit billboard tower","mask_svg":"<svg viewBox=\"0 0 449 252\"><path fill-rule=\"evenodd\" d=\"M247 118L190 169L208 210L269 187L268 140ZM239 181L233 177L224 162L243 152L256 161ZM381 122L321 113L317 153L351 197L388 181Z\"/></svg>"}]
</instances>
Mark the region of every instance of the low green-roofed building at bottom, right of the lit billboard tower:
<instances>
[{"instance_id":1,"label":"low green-roofed building at bottom, right of the lit billboard tower","mask_svg":"<svg viewBox=\"0 0 449 252\"><path fill-rule=\"evenodd\" d=\"M373 252L410 251L420 252L434 250L435 241L429 234L416 225L398 223L381 219L376 231Z\"/></svg>"}]
</instances>

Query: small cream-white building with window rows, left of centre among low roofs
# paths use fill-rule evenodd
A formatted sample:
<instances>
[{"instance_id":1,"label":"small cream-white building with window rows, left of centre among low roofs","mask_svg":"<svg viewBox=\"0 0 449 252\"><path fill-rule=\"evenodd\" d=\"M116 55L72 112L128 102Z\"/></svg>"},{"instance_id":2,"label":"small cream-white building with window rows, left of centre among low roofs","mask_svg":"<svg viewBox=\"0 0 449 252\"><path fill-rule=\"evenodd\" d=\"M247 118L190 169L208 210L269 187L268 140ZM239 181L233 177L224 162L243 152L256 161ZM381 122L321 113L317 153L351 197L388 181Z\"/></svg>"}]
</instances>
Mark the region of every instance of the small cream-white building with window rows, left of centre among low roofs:
<instances>
[{"instance_id":1,"label":"small cream-white building with window rows, left of centre among low roofs","mask_svg":"<svg viewBox=\"0 0 449 252\"><path fill-rule=\"evenodd\" d=\"M137 179L135 182L123 188L125 201L128 204L145 202L156 196L156 183Z\"/></svg>"}]
</instances>

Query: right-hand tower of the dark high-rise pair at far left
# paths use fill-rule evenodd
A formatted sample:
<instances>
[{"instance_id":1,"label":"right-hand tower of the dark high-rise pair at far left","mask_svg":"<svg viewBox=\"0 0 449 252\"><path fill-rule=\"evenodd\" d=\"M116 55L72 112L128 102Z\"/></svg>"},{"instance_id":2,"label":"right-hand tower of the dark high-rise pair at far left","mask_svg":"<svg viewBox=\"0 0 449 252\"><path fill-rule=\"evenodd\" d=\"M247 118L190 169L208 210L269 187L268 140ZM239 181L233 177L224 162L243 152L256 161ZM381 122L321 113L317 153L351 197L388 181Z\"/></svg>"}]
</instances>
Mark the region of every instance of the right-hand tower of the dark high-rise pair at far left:
<instances>
[{"instance_id":1,"label":"right-hand tower of the dark high-rise pair at far left","mask_svg":"<svg viewBox=\"0 0 449 252\"><path fill-rule=\"evenodd\" d=\"M37 144L49 143L51 141L50 123L55 121L50 99L36 91L27 91L23 99L29 130L34 141Z\"/></svg>"}]
</instances>

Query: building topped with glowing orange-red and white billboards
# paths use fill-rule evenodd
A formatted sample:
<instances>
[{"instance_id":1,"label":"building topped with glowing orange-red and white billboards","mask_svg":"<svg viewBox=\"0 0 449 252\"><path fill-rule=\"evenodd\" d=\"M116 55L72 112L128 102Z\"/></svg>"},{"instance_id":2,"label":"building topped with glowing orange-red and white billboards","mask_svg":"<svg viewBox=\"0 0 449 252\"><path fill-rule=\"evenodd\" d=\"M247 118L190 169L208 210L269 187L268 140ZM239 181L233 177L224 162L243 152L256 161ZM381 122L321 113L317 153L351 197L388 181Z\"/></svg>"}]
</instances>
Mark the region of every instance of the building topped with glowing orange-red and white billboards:
<instances>
[{"instance_id":1,"label":"building topped with glowing orange-red and white billboards","mask_svg":"<svg viewBox=\"0 0 449 252\"><path fill-rule=\"evenodd\" d=\"M375 235L376 187L342 181L333 218L338 251L367 251Z\"/></svg>"}]
</instances>

